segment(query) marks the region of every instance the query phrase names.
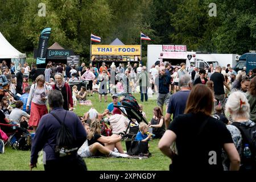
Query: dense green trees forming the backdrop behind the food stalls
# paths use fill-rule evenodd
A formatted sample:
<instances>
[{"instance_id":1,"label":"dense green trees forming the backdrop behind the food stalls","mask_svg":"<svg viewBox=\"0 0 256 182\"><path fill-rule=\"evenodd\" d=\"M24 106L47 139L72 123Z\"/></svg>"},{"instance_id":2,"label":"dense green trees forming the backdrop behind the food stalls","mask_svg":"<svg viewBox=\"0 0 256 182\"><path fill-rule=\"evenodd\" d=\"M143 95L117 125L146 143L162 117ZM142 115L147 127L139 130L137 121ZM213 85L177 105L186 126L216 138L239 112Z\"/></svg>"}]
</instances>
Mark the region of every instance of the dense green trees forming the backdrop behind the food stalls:
<instances>
[{"instance_id":1,"label":"dense green trees forming the backdrop behind the food stalls","mask_svg":"<svg viewBox=\"0 0 256 182\"><path fill-rule=\"evenodd\" d=\"M90 34L100 44L119 38L125 44L185 44L191 51L245 53L256 46L254 0L0 0L0 31L14 47L31 52L40 31L51 27L49 45L58 42L89 57ZM39 3L46 16L39 16ZM209 16L210 3L216 16Z\"/></svg>"}]
</instances>

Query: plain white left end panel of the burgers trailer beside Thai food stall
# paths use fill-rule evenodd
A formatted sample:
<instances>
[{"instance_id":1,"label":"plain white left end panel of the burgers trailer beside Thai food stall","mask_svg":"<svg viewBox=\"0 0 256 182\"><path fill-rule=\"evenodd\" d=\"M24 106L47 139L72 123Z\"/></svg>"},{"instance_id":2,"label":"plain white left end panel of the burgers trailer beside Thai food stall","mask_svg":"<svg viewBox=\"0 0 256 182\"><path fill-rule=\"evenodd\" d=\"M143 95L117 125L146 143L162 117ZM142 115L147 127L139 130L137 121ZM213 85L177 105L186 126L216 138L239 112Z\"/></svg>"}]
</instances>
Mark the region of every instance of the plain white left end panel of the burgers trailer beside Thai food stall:
<instances>
[{"instance_id":1,"label":"plain white left end panel of the burgers trailer beside Thai food stall","mask_svg":"<svg viewBox=\"0 0 256 182\"><path fill-rule=\"evenodd\" d=\"M162 45L147 45L147 71L155 64L155 61L159 61L160 52L162 51Z\"/></svg>"}]
</instances>

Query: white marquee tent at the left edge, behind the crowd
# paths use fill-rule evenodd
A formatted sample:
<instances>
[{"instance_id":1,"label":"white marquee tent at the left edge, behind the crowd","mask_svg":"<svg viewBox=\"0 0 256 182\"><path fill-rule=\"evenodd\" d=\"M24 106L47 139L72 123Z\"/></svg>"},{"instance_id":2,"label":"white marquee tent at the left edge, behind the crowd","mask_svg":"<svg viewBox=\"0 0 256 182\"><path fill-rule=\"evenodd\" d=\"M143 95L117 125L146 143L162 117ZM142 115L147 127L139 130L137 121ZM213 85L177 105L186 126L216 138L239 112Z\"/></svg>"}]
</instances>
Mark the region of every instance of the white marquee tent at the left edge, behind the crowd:
<instances>
[{"instance_id":1,"label":"white marquee tent at the left edge, behind the crowd","mask_svg":"<svg viewBox=\"0 0 256 182\"><path fill-rule=\"evenodd\" d=\"M5 39L0 32L0 59L11 59L11 62L15 63L15 68L18 68L18 64L22 65L26 61L26 54L19 52ZM15 69L16 70L16 69Z\"/></svg>"}]
</instances>

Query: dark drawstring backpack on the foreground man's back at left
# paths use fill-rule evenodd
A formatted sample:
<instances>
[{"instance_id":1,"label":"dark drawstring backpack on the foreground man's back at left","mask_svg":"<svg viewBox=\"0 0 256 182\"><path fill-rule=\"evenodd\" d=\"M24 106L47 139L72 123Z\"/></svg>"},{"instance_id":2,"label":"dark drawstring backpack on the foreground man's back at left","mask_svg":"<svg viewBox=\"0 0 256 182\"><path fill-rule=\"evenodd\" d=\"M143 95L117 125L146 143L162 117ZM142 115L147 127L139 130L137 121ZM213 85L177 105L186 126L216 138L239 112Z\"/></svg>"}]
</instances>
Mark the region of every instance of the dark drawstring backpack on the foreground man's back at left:
<instances>
[{"instance_id":1,"label":"dark drawstring backpack on the foreground man's back at left","mask_svg":"<svg viewBox=\"0 0 256 182\"><path fill-rule=\"evenodd\" d=\"M78 147L73 148L73 144L76 143L76 137L73 136L72 132L64 123L67 113L68 111L65 112L63 122L57 117L56 114L51 113L53 117L55 117L60 123L60 129L57 131L55 147L55 154L56 156L60 157L76 154L78 150Z\"/></svg>"}]
</instances>

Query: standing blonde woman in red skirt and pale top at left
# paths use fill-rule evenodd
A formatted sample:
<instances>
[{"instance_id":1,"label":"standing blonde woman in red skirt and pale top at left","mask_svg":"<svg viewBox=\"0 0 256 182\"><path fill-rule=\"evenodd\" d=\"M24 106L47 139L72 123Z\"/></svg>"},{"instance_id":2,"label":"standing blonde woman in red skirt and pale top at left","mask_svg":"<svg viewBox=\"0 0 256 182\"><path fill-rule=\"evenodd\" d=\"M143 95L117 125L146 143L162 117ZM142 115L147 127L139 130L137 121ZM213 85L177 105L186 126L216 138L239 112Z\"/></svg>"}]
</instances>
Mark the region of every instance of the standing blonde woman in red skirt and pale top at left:
<instances>
[{"instance_id":1,"label":"standing blonde woman in red skirt and pale top at left","mask_svg":"<svg viewBox=\"0 0 256 182\"><path fill-rule=\"evenodd\" d=\"M35 81L36 83L31 85L26 106L26 110L28 110L31 105L28 125L34 127L34 132L36 131L42 116L48 113L46 106L48 87L46 86L44 76L39 75L36 77Z\"/></svg>"}]
</instances>

